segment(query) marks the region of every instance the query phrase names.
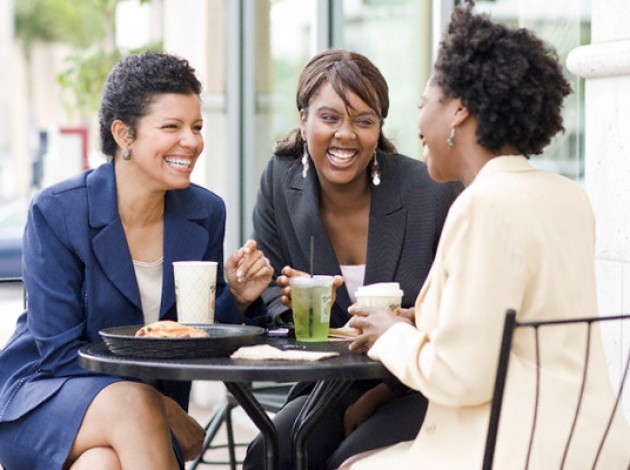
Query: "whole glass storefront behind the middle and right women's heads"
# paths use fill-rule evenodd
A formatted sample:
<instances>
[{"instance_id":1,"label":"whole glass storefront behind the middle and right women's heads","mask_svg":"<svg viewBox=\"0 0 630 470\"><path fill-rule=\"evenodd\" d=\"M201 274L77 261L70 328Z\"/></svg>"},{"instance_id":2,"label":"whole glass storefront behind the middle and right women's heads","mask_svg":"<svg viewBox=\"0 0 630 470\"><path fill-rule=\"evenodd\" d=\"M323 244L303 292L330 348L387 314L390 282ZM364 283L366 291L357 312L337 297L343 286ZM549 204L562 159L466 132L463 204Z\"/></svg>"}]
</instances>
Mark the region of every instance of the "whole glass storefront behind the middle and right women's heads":
<instances>
[{"instance_id":1,"label":"whole glass storefront behind the middle and right women's heads","mask_svg":"<svg viewBox=\"0 0 630 470\"><path fill-rule=\"evenodd\" d=\"M588 0L478 0L476 11L496 21L525 26L558 51L562 63L590 41ZM421 158L417 106L431 73L439 31L434 16L448 20L454 0L256 0L244 1L241 142L241 238L251 234L260 174L274 143L298 125L295 93L308 60L330 43L366 55L390 88L385 134L398 151ZM581 180L583 176L583 83L568 70L575 93L565 101L566 132L556 136L540 167ZM230 84L228 84L230 86Z\"/></svg>"}]
</instances>

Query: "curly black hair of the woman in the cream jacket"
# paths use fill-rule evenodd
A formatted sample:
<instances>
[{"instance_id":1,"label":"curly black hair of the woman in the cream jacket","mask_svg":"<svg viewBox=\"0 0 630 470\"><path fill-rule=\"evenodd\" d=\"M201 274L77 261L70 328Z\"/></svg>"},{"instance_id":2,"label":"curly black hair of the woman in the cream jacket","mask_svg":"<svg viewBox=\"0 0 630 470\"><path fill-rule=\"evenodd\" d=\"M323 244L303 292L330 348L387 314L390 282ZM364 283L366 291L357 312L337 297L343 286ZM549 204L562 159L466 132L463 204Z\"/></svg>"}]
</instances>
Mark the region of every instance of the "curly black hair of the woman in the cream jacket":
<instances>
[{"instance_id":1,"label":"curly black hair of the woman in the cream jacket","mask_svg":"<svg viewBox=\"0 0 630 470\"><path fill-rule=\"evenodd\" d=\"M474 2L455 8L432 83L459 98L477 118L477 141L491 151L506 144L525 156L542 153L564 131L562 102L571 85L554 49L526 28L511 29Z\"/></svg>"}]
</instances>

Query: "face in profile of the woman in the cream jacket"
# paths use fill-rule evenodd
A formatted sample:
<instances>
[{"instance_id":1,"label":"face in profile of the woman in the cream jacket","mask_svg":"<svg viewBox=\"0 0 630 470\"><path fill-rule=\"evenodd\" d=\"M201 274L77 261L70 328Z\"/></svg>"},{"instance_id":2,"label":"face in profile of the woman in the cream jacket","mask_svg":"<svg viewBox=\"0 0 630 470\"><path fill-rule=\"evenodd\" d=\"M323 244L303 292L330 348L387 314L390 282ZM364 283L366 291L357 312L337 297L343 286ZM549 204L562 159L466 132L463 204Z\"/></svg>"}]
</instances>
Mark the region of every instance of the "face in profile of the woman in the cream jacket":
<instances>
[{"instance_id":1,"label":"face in profile of the woman in the cream jacket","mask_svg":"<svg viewBox=\"0 0 630 470\"><path fill-rule=\"evenodd\" d=\"M422 142L429 175L435 181L457 179L457 150L449 147L446 142L456 119L458 106L459 100L445 98L440 87L429 80L420 102L418 137ZM457 129L454 140L457 145Z\"/></svg>"}]
</instances>

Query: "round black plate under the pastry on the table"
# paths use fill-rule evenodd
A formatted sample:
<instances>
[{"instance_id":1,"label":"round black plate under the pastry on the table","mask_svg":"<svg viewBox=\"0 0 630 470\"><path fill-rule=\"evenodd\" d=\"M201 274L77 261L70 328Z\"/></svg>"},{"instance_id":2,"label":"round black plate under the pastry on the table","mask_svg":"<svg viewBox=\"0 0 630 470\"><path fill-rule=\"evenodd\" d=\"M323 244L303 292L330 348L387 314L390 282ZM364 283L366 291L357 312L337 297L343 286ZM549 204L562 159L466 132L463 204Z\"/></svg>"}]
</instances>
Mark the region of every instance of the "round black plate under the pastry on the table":
<instances>
[{"instance_id":1,"label":"round black plate under the pastry on the table","mask_svg":"<svg viewBox=\"0 0 630 470\"><path fill-rule=\"evenodd\" d=\"M208 338L147 338L135 336L143 325L104 328L99 334L107 348L119 356L146 358L225 357L241 346L256 344L264 328L243 325L190 325L208 333Z\"/></svg>"}]
</instances>

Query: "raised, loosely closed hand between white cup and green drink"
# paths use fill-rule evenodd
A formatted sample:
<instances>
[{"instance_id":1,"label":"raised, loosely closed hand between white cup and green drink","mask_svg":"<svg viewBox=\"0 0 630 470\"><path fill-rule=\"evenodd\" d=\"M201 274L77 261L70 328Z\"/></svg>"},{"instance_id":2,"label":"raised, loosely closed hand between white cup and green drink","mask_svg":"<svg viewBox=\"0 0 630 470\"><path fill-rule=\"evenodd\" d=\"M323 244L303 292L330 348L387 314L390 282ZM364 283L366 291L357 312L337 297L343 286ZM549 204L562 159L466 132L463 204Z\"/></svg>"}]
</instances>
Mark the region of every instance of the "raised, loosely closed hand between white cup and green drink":
<instances>
[{"instance_id":1,"label":"raised, loosely closed hand between white cup and green drink","mask_svg":"<svg viewBox=\"0 0 630 470\"><path fill-rule=\"evenodd\" d=\"M271 263L256 249L254 240L235 251L225 263L230 291L239 310L244 312L267 288L273 277Z\"/></svg>"}]
</instances>

